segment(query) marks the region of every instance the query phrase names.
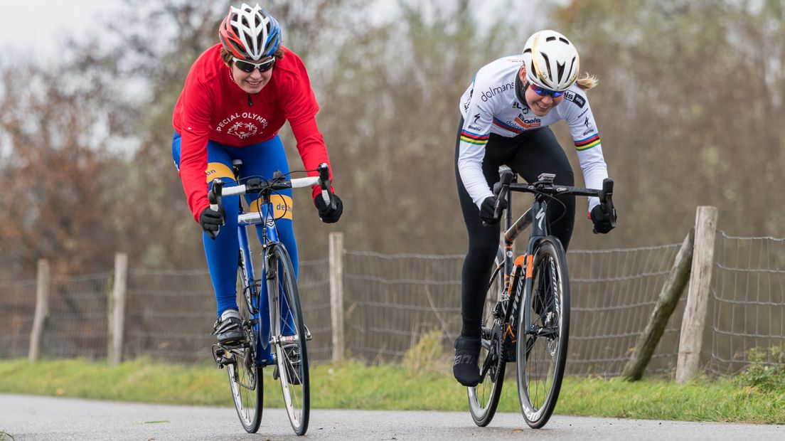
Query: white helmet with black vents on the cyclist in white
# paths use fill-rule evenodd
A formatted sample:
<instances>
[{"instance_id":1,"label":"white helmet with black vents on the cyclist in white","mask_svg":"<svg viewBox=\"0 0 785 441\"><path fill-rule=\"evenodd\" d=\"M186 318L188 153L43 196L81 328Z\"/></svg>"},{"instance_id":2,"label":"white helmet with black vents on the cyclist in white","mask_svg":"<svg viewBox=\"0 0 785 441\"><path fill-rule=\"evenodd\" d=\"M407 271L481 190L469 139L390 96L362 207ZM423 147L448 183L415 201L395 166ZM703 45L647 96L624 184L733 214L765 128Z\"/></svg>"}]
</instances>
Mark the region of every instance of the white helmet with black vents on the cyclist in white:
<instances>
[{"instance_id":1,"label":"white helmet with black vents on the cyclist in white","mask_svg":"<svg viewBox=\"0 0 785 441\"><path fill-rule=\"evenodd\" d=\"M528 82L549 90L566 90L578 79L578 49L557 31L539 31L524 46Z\"/></svg>"}]
</instances>

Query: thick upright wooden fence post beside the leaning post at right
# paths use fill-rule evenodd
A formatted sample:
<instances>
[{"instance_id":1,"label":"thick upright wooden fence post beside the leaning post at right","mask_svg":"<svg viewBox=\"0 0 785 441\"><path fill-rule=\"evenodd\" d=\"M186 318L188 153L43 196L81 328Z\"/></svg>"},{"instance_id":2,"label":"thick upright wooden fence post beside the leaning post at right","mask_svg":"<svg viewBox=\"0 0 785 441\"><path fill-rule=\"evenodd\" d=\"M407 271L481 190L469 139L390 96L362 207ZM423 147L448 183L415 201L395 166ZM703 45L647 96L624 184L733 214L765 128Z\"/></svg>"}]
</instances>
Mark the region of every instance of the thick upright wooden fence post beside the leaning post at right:
<instances>
[{"instance_id":1,"label":"thick upright wooden fence post beside the leaning post at right","mask_svg":"<svg viewBox=\"0 0 785 441\"><path fill-rule=\"evenodd\" d=\"M681 319L681 338L676 364L676 381L685 383L698 372L703 326L711 289L714 263L714 236L717 233L717 208L699 206L695 218L695 251L689 280L687 306Z\"/></svg>"}]
</instances>

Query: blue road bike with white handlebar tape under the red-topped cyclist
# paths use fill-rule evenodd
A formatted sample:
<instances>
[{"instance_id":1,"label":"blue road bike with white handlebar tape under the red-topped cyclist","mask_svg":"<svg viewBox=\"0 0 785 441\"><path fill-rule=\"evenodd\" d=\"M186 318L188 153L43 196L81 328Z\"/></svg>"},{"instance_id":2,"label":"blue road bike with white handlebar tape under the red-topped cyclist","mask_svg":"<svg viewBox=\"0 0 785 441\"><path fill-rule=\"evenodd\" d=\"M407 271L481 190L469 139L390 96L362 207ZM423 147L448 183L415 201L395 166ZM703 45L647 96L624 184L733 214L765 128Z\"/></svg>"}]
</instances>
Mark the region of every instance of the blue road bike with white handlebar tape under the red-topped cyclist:
<instances>
[{"instance_id":1,"label":"blue road bike with white handlebar tape under the red-topped cyclist","mask_svg":"<svg viewBox=\"0 0 785 441\"><path fill-rule=\"evenodd\" d=\"M232 162L235 181L240 183L242 161ZM285 188L310 187L319 184L325 201L334 203L330 193L327 164L319 166L319 177L288 179L276 173L272 180L246 178L244 184L225 186L220 179L213 180L209 193L213 210L221 208L223 198L229 195L257 194L258 210L246 213L243 198L236 234L239 237L239 286L242 299L238 301L245 344L238 347L213 345L218 367L226 368L232 399L240 422L246 432L259 429L262 414L263 377L265 366L274 366L272 377L279 380L283 401L294 433L305 435L310 413L310 383L308 348L311 339L303 323L297 279L289 253L279 242L271 196ZM256 204L254 203L254 206ZM263 224L261 228L261 276L254 272L254 258L250 250L248 227ZM264 284L264 285L262 285ZM266 286L265 290L262 286Z\"/></svg>"}]
</instances>

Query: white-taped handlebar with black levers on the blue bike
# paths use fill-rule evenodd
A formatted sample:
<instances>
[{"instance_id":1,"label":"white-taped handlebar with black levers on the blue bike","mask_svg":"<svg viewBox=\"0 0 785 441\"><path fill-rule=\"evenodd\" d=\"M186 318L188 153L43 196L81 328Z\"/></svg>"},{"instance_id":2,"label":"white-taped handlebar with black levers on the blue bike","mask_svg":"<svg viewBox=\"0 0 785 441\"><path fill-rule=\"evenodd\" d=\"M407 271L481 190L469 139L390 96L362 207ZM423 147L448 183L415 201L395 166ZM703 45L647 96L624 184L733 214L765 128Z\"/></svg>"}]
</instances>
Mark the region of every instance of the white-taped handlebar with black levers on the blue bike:
<instances>
[{"instance_id":1,"label":"white-taped handlebar with black levers on the blue bike","mask_svg":"<svg viewBox=\"0 0 785 441\"><path fill-rule=\"evenodd\" d=\"M330 190L330 168L327 166L326 162L322 162L316 167L316 171L319 172L318 177L309 176L296 177L294 179L281 179L276 176L272 180L254 178L247 180L245 184L235 185L234 187L224 187L224 182L220 178L215 178L213 180L213 188L210 188L210 191L207 192L207 199L210 201L210 209L220 212L221 207L223 206L224 196L246 195L263 193L265 191L284 190L286 188L301 188L319 185L324 202L330 205L334 210L335 201L332 197L333 193ZM216 231L215 235L218 235L218 231Z\"/></svg>"}]
</instances>

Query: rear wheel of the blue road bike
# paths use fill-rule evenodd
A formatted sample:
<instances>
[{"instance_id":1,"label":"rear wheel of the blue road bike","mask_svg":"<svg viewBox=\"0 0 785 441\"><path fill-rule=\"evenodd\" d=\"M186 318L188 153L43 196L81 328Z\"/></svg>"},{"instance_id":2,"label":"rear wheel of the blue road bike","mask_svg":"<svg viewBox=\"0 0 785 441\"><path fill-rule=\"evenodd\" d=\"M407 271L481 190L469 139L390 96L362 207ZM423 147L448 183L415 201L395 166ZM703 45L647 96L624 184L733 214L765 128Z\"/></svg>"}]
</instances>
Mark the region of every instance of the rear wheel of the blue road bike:
<instances>
[{"instance_id":1,"label":"rear wheel of the blue road bike","mask_svg":"<svg viewBox=\"0 0 785 441\"><path fill-rule=\"evenodd\" d=\"M246 259L241 251L239 259L239 274L242 277L242 286L253 285L253 280L248 280ZM243 293L247 291L243 289ZM244 297L244 296L243 296ZM258 297L257 297L258 298ZM226 365L229 377L229 386L232 388L232 399L235 402L237 416L246 432L256 433L261 423L262 403L264 398L263 379L261 368L256 360L257 336L250 323L251 314L246 301L239 301L240 318L243 320L243 329L246 331L246 344L242 348L229 351L234 363Z\"/></svg>"}]
</instances>

